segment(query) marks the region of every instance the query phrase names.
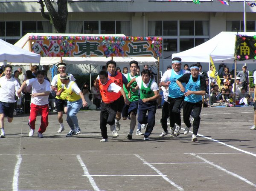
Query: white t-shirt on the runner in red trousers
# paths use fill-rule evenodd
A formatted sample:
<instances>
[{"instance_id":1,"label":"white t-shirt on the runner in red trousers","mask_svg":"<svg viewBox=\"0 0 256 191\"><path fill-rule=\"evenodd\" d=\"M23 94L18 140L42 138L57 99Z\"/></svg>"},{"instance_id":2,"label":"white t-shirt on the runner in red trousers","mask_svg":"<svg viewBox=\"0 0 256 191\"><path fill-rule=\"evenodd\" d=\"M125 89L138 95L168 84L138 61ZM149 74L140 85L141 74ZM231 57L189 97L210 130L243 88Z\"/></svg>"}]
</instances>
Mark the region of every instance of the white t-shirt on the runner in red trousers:
<instances>
[{"instance_id":1,"label":"white t-shirt on the runner in red trousers","mask_svg":"<svg viewBox=\"0 0 256 191\"><path fill-rule=\"evenodd\" d=\"M51 85L47 80L44 80L44 82L41 84L38 82L37 78L32 78L29 80L26 80L26 85L32 85L32 93L43 93L45 91L51 91ZM31 97L31 103L34 103L35 105L46 105L48 104L48 96L36 96Z\"/></svg>"}]
</instances>

